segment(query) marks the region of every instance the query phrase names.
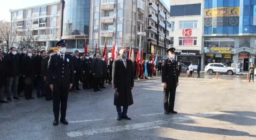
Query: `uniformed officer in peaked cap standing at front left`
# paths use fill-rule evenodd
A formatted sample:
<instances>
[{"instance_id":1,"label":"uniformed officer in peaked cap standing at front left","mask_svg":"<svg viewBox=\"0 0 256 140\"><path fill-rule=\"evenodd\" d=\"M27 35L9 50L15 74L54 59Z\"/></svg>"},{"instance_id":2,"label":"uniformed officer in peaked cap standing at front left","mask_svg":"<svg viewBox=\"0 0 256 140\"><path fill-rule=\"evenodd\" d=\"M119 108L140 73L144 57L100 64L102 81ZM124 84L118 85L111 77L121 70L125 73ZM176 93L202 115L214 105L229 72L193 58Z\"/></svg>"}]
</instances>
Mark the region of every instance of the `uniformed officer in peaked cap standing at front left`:
<instances>
[{"instance_id":1,"label":"uniformed officer in peaked cap standing at front left","mask_svg":"<svg viewBox=\"0 0 256 140\"><path fill-rule=\"evenodd\" d=\"M74 69L72 56L66 54L66 42L66 40L60 40L56 43L59 52L51 55L48 62L47 82L52 90L53 125L59 124L59 113L61 114L60 122L68 124L66 120L68 91L74 83Z\"/></svg>"}]
</instances>

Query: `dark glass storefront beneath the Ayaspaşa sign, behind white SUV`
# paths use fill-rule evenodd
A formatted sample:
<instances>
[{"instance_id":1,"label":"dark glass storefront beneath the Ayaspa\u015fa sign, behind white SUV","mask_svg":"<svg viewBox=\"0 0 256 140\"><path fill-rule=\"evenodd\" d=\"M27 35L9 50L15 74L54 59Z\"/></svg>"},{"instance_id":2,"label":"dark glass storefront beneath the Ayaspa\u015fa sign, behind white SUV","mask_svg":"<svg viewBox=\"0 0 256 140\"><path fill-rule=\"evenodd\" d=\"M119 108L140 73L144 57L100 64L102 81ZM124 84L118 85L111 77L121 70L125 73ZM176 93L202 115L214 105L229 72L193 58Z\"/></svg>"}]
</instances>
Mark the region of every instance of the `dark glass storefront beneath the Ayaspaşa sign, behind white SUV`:
<instances>
[{"instance_id":1,"label":"dark glass storefront beneath the Ayaspa\u015fa sign, behind white SUV","mask_svg":"<svg viewBox=\"0 0 256 140\"><path fill-rule=\"evenodd\" d=\"M223 63L229 67L233 63L232 54L204 54L204 66L208 63Z\"/></svg>"}]
</instances>

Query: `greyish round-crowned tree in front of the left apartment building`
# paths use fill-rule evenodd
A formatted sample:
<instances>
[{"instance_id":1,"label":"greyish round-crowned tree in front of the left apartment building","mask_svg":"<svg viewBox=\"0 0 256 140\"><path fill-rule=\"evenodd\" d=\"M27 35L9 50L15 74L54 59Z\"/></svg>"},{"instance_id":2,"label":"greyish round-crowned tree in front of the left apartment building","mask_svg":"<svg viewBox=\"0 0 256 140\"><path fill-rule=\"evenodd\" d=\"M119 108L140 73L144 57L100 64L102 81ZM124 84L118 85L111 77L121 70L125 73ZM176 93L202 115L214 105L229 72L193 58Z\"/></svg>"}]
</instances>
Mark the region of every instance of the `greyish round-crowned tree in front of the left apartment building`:
<instances>
[{"instance_id":1,"label":"greyish round-crowned tree in front of the left apartment building","mask_svg":"<svg viewBox=\"0 0 256 140\"><path fill-rule=\"evenodd\" d=\"M32 32L28 31L26 36L23 36L22 39L19 41L18 50L23 47L31 49L33 52L41 50L41 44L38 41L38 36L34 36Z\"/></svg>"}]
</instances>

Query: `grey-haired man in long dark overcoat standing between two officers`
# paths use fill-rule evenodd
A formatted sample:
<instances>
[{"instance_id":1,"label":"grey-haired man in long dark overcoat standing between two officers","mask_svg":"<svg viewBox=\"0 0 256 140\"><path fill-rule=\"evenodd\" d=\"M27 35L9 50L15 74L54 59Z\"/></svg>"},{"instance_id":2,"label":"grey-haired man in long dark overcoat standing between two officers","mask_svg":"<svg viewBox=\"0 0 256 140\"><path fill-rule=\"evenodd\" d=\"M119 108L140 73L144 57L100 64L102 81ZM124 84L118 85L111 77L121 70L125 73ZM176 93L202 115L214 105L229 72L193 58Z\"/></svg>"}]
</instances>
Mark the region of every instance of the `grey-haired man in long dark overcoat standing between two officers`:
<instances>
[{"instance_id":1,"label":"grey-haired man in long dark overcoat standing between two officers","mask_svg":"<svg viewBox=\"0 0 256 140\"><path fill-rule=\"evenodd\" d=\"M121 120L122 118L130 120L131 118L127 116L127 110L128 106L133 104L133 62L127 59L126 49L121 49L119 53L121 58L114 61L112 70L112 83L115 90L114 105L118 114L117 120ZM121 106L123 106L123 112Z\"/></svg>"}]
</instances>

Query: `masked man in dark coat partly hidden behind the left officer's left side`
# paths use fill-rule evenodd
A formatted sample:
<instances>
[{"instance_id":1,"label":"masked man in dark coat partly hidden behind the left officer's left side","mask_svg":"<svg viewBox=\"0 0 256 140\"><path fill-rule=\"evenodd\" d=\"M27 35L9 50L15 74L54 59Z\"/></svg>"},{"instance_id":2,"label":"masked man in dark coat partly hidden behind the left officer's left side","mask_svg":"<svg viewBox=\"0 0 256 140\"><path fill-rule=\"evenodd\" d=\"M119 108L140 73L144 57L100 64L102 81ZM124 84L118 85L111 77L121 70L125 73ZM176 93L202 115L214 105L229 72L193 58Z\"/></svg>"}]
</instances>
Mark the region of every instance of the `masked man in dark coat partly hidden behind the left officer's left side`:
<instances>
[{"instance_id":1,"label":"masked man in dark coat partly hidden behind the left officer's left side","mask_svg":"<svg viewBox=\"0 0 256 140\"><path fill-rule=\"evenodd\" d=\"M46 101L51 101L52 100L52 91L50 89L49 84L46 81L46 76L47 76L47 69L48 69L48 61L50 59L50 56L53 55L54 52L53 50L48 51L48 56L43 58L42 63L41 63L41 76L43 77L43 85L45 87L45 99Z\"/></svg>"}]
</instances>

